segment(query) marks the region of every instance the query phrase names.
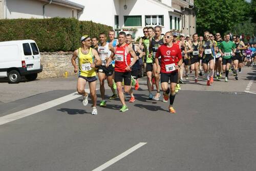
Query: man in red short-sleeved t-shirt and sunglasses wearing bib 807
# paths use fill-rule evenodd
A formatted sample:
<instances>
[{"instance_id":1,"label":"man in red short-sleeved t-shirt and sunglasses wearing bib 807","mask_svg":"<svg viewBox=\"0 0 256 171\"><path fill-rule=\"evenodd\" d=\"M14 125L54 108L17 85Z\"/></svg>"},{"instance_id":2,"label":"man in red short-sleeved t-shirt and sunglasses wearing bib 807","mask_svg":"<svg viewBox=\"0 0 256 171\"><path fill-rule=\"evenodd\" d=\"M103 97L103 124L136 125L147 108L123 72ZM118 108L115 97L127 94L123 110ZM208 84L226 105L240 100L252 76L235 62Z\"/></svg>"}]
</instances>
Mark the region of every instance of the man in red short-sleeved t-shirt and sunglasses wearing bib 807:
<instances>
[{"instance_id":1,"label":"man in red short-sleeved t-shirt and sunglasses wearing bib 807","mask_svg":"<svg viewBox=\"0 0 256 171\"><path fill-rule=\"evenodd\" d=\"M178 69L182 64L182 55L180 48L173 44L172 32L165 33L164 40L166 45L158 48L155 62L157 72L161 73L161 87L164 92L164 100L167 101L169 98L169 112L176 113L173 103L176 95L175 88L178 83ZM161 66L159 66L159 60L161 60ZM170 87L168 87L169 80Z\"/></svg>"}]
</instances>

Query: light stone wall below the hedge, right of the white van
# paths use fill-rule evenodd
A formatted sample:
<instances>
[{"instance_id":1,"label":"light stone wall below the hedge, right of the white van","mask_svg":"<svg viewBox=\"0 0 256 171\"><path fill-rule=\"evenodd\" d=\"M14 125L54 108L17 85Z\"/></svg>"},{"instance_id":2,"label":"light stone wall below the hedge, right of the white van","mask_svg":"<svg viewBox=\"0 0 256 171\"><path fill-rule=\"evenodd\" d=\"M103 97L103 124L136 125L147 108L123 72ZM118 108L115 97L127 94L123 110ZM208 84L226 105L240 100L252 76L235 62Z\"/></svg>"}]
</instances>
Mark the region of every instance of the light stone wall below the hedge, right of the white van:
<instances>
[{"instance_id":1,"label":"light stone wall below the hedge, right of the white van","mask_svg":"<svg viewBox=\"0 0 256 171\"><path fill-rule=\"evenodd\" d=\"M41 52L42 72L38 74L38 78L57 78L76 75L74 67L71 63L73 52Z\"/></svg>"}]
</instances>

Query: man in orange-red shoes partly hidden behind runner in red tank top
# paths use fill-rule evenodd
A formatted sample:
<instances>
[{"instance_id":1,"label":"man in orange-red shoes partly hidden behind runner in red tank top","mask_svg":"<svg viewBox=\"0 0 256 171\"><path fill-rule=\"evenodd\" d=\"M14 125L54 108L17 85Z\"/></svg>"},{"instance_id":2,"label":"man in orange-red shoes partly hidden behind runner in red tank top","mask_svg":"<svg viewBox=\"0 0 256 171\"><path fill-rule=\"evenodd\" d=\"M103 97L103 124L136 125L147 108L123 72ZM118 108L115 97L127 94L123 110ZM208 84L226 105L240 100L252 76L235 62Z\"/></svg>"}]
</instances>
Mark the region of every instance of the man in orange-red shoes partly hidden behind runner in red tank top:
<instances>
[{"instance_id":1,"label":"man in orange-red shoes partly hidden behind runner in red tank top","mask_svg":"<svg viewBox=\"0 0 256 171\"><path fill-rule=\"evenodd\" d=\"M136 80L135 84L135 90L139 89L139 83L138 83L138 74L139 74L139 69L140 69L140 62L139 59L143 56L143 52L140 50L140 48L137 45L134 45L131 43L132 42L132 35L131 34L126 34L126 44L130 45L130 47L133 48L134 52L136 53L136 62L134 63L132 67L132 77ZM131 57L131 61L133 61L133 57ZM131 88L130 90L130 95L131 99L129 102L134 102L135 97L133 95L133 89Z\"/></svg>"}]
</instances>

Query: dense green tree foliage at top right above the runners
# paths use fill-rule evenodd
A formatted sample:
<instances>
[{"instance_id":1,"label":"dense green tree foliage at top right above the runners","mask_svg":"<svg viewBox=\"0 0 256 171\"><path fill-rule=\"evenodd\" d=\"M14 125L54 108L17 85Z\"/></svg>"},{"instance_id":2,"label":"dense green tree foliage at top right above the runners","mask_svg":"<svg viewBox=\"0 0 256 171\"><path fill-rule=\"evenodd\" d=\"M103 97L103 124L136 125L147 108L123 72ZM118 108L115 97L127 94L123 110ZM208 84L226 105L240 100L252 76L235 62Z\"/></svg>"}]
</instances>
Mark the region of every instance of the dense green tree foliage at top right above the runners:
<instances>
[{"instance_id":1,"label":"dense green tree foliage at top right above the runners","mask_svg":"<svg viewBox=\"0 0 256 171\"><path fill-rule=\"evenodd\" d=\"M237 23L248 20L250 4L244 0L195 0L197 11L197 32L205 30L224 34Z\"/></svg>"}]
</instances>

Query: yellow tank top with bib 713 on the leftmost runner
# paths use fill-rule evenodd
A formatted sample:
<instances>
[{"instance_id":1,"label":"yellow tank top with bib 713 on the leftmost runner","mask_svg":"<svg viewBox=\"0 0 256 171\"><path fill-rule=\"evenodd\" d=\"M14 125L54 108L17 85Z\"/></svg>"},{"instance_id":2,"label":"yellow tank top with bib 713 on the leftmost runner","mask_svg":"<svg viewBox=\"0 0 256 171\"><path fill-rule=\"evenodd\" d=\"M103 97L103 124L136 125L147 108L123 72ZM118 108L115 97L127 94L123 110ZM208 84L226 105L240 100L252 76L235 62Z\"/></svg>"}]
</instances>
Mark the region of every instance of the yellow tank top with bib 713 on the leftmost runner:
<instances>
[{"instance_id":1,"label":"yellow tank top with bib 713 on the leftmost runner","mask_svg":"<svg viewBox=\"0 0 256 171\"><path fill-rule=\"evenodd\" d=\"M79 63L79 72L78 75L84 77L93 77L96 76L96 72L91 68L91 63L94 62L94 55L92 53L92 48L89 49L88 54L83 54L81 48L78 49L78 63Z\"/></svg>"}]
</instances>

